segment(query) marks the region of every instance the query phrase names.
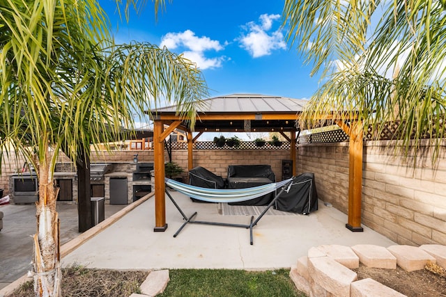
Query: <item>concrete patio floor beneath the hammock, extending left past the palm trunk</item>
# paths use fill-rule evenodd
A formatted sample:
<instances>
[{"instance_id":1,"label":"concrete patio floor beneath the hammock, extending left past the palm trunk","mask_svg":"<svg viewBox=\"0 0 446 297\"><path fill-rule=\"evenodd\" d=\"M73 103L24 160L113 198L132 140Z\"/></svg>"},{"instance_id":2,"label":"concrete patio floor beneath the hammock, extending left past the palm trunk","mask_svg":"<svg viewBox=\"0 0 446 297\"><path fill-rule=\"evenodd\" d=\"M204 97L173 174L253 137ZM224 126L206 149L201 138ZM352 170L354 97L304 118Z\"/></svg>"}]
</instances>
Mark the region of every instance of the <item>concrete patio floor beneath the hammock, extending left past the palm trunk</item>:
<instances>
[{"instance_id":1,"label":"concrete patio floor beneath the hammock, extending left past the palm trunk","mask_svg":"<svg viewBox=\"0 0 446 297\"><path fill-rule=\"evenodd\" d=\"M250 216L223 216L217 204L192 202L190 198L176 191L169 192L176 202L190 216L198 212L196 220L224 223L249 224ZM333 207L327 207L319 200L318 211L304 215L266 215L254 227L254 245L249 244L249 230L240 227L188 224L174 238L174 233L183 224L183 217L166 196L165 232L153 232L155 227L155 198L128 206L106 205L106 220L88 231L91 236L77 232L77 206L58 204L61 218L61 250L63 267L83 265L89 268L111 268L119 270L161 269L161 268L236 268L263 270L290 268L299 257L307 255L309 248L322 244L375 244L392 246L395 243L385 236L364 227L364 232L346 229L346 214ZM139 204L139 205L137 205ZM10 205L10 207L15 207ZM19 206L20 207L20 206ZM25 207L25 206L22 206ZM35 210L33 205L26 206ZM124 208L123 208L124 207ZM4 211L4 209L0 209ZM23 211L23 209L22 209ZM17 213L20 213L17 209ZM18 214L16 214L18 216ZM22 223L34 226L35 218L20 215ZM109 218L107 218L109 217ZM20 224L22 224L20 223ZM7 227L4 226L5 228ZM8 241L6 229L0 232L0 243ZM31 233L22 231L18 246ZM6 236L5 236L6 235ZM26 237L29 241L30 238ZM72 239L71 241L69 241ZM68 242L67 242L68 241ZM17 248L11 254L1 255L1 269L5 271L0 279L1 287L11 277L22 277L29 270L30 246ZM12 257L12 258L10 258ZM24 262L26 259L26 263ZM3 270L4 269L4 270ZM0 289L1 289L0 287ZM5 288L8 289L8 288Z\"/></svg>"}]
</instances>

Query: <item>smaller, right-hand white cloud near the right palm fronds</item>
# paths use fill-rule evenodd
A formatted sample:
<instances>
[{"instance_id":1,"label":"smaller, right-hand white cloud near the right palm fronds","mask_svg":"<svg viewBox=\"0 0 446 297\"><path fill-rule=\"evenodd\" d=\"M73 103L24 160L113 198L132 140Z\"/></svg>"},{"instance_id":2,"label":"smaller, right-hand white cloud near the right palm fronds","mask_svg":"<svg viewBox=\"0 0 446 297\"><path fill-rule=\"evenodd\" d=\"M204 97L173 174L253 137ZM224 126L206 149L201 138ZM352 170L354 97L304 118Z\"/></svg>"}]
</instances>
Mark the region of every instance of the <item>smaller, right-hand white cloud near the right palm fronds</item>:
<instances>
[{"instance_id":1,"label":"smaller, right-hand white cloud near the right palm fronds","mask_svg":"<svg viewBox=\"0 0 446 297\"><path fill-rule=\"evenodd\" d=\"M284 35L279 29L268 33L272 29L272 23L279 19L280 15L261 15L260 24L249 22L245 25L246 35L238 38L240 47L249 51L253 58L268 56L275 49L285 49Z\"/></svg>"}]
</instances>

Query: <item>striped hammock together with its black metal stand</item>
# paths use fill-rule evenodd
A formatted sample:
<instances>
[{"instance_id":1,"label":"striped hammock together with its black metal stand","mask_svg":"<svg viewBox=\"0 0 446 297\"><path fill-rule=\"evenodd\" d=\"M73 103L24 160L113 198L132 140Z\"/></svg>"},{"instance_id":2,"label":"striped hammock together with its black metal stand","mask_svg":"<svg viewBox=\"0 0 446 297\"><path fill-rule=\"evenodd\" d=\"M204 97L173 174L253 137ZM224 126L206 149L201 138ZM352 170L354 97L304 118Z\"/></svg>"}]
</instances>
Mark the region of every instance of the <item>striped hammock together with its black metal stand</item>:
<instances>
[{"instance_id":1,"label":"striped hammock together with its black metal stand","mask_svg":"<svg viewBox=\"0 0 446 297\"><path fill-rule=\"evenodd\" d=\"M191 216L187 217L184 213L184 211L178 206L174 198L170 195L170 193L165 190L166 194L169 196L169 199L172 203L174 203L176 209L180 212L181 216L183 216L183 219L185 220L185 223L181 225L181 227L176 231L174 234L174 237L178 236L178 234L183 230L185 225L187 223L192 224L203 224L203 225L218 225L218 226L227 226L227 227L242 227L242 228L249 228L249 242L251 245L253 245L253 236L252 236L252 228L259 223L259 220L266 214L268 209L272 207L272 205L275 203L277 198L282 195L282 193L288 192L291 188L291 184L293 183L293 177L291 179L286 179L282 182L277 182L273 184L267 184L263 186L254 186L252 188L241 188L241 189L215 189L215 188L201 188L198 186L190 186L187 184L183 184L180 182L176 182L173 179L167 179L166 178L166 185L174 188L176 191L183 193L185 195L190 195L195 199L208 201L208 202L240 202L240 201L247 201L250 199L257 198L261 195L264 195L266 193L270 193L272 191L277 190L277 188L282 187L282 190L279 191L279 193L275 195L275 197L272 199L272 201L268 204L266 209L264 209L259 216L254 220L254 216L251 216L251 219L249 221L249 224L233 224L233 223L219 223L219 222L209 222L204 220L194 220L195 216L197 216L197 211L194 212ZM237 195L236 193L238 191L242 191L240 194L242 198L240 198L240 195L238 197L234 197L234 195ZM250 191L257 192L255 194L249 194ZM266 192L268 191L268 192ZM246 196L246 198L243 198L243 195ZM228 198L231 197L231 198ZM226 199L225 199L226 198Z\"/></svg>"}]
</instances>

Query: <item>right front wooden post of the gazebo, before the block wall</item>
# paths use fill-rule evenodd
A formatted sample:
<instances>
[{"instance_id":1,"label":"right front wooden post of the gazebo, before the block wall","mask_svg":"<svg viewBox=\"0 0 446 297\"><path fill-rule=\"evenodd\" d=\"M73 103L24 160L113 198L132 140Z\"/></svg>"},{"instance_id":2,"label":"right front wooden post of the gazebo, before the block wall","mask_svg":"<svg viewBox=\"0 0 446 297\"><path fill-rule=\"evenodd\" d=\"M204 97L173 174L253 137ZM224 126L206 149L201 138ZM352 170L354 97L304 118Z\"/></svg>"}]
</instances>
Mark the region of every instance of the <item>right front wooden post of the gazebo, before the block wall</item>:
<instances>
[{"instance_id":1,"label":"right front wooden post of the gazebo, before the block wall","mask_svg":"<svg viewBox=\"0 0 446 297\"><path fill-rule=\"evenodd\" d=\"M352 122L349 130L348 223L346 227L352 232L362 232L364 230L361 227L363 150L361 122Z\"/></svg>"}]
</instances>

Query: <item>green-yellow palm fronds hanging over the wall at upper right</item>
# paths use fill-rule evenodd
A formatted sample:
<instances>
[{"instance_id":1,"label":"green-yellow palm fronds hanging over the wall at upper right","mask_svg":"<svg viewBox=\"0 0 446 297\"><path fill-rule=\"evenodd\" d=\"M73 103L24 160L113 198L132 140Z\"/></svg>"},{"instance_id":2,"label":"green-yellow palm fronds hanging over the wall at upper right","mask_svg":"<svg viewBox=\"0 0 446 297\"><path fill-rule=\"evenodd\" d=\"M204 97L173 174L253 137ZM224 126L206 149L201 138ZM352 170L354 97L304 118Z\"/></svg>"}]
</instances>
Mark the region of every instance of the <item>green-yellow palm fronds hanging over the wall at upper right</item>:
<instances>
[{"instance_id":1,"label":"green-yellow palm fronds hanging over the wall at upper right","mask_svg":"<svg viewBox=\"0 0 446 297\"><path fill-rule=\"evenodd\" d=\"M378 138L393 122L406 153L416 154L422 138L438 153L446 120L445 13L444 0L286 0L287 40L325 82L301 124L320 124L321 115L355 118Z\"/></svg>"}]
</instances>

